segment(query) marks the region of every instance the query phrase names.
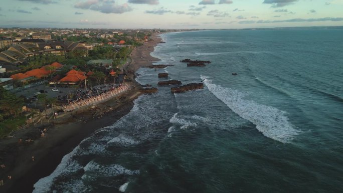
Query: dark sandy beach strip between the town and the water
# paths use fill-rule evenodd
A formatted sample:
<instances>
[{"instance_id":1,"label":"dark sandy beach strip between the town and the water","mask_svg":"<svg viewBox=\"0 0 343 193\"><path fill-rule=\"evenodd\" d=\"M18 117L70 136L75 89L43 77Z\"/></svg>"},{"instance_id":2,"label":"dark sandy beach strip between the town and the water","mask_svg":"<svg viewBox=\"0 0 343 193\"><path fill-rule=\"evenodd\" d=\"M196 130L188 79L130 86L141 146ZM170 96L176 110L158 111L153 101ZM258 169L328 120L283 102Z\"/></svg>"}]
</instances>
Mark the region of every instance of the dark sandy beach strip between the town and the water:
<instances>
[{"instance_id":1,"label":"dark sandy beach strip between the town and the water","mask_svg":"<svg viewBox=\"0 0 343 193\"><path fill-rule=\"evenodd\" d=\"M0 140L0 192L32 192L33 185L42 177L50 175L64 155L72 151L83 139L95 130L111 125L130 112L133 100L142 93L139 84L134 81L134 73L140 67L151 65L159 59L150 56L154 47L161 41L159 34L153 34L152 40L136 47L131 53L131 61L123 66L131 78L135 89L114 97L95 108L70 113L66 123L43 123L14 132L16 137ZM94 107L94 106L93 106ZM39 137L40 130L48 128L44 138ZM33 136L33 137L30 137ZM23 138L23 142L18 140ZM35 139L26 142L26 138ZM35 157L34 161L32 156ZM12 179L8 179L8 175Z\"/></svg>"}]
</instances>

